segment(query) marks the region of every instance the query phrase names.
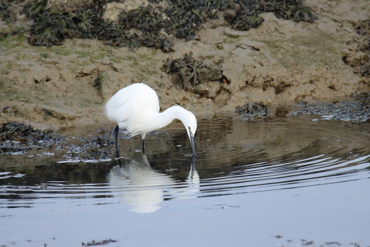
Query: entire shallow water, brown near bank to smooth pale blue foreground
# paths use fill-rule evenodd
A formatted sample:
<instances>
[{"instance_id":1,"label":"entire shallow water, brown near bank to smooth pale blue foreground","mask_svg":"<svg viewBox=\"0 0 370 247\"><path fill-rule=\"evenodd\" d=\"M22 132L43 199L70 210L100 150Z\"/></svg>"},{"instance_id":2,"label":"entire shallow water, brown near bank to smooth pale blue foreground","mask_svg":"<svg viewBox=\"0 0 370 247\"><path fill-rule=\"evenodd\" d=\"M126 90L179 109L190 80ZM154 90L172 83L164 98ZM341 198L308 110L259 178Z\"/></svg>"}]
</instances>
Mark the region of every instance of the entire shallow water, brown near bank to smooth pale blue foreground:
<instances>
[{"instance_id":1,"label":"entire shallow water, brown near bank to smooth pale blue foreground","mask_svg":"<svg viewBox=\"0 0 370 247\"><path fill-rule=\"evenodd\" d=\"M313 118L199 121L195 166L181 123L120 161L1 155L0 245L369 246L369 123ZM107 133L86 129L64 135Z\"/></svg>"}]
</instances>

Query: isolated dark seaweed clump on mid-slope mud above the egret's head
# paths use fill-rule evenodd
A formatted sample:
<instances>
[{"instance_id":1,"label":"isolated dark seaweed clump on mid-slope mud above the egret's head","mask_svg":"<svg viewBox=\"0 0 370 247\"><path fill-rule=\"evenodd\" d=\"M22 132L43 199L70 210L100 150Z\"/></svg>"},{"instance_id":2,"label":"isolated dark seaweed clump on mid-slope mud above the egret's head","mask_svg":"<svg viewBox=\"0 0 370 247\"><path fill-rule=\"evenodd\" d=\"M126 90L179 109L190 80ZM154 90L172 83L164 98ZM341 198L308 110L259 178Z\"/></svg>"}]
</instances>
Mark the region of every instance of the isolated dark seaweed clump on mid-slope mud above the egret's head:
<instances>
[{"instance_id":1,"label":"isolated dark seaweed clump on mid-slope mud above the egret's head","mask_svg":"<svg viewBox=\"0 0 370 247\"><path fill-rule=\"evenodd\" d=\"M167 59L162 67L166 73L176 73L175 83L189 90L204 81L222 80L221 68L205 60L196 60L193 53L185 53L181 59Z\"/></svg>"}]
</instances>

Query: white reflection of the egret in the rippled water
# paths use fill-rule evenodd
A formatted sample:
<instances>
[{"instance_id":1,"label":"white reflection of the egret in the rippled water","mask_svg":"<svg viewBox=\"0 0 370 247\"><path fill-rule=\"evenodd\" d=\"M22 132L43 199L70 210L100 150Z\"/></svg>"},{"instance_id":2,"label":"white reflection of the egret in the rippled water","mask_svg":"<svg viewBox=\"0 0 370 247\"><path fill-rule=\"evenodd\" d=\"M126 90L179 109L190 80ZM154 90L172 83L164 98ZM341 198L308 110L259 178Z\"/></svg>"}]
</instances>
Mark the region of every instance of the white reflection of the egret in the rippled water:
<instances>
[{"instance_id":1,"label":"white reflection of the egret in the rippled water","mask_svg":"<svg viewBox=\"0 0 370 247\"><path fill-rule=\"evenodd\" d=\"M165 197L191 198L196 197L199 192L200 180L194 160L185 184L150 167L145 154L133 160L117 161L117 166L107 174L107 181L122 189L114 193L114 196L121 198L120 203L131 206L129 211L152 213L162 207L161 202Z\"/></svg>"}]
</instances>

